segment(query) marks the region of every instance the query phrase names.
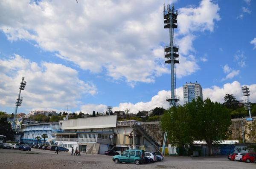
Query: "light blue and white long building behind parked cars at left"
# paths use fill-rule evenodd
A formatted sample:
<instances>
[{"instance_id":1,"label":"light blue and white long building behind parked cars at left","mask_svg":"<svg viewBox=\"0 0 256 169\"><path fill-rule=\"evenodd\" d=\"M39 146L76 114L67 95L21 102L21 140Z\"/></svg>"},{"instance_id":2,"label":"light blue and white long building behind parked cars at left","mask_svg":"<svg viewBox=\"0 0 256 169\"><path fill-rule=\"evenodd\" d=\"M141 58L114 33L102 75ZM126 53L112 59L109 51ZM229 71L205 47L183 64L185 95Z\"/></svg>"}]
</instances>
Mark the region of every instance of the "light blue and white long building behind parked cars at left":
<instances>
[{"instance_id":1,"label":"light blue and white long building behind parked cars at left","mask_svg":"<svg viewBox=\"0 0 256 169\"><path fill-rule=\"evenodd\" d=\"M42 137L44 133L48 135L48 137L45 139L47 140L54 140L55 136L52 134L53 132L61 132L59 129L59 123L58 122L52 122L52 123L38 123L38 124L29 124L25 126L25 129L23 129L23 137L20 141L24 143L30 143L30 144L37 144L37 143L43 143L44 139L41 138L39 141L35 139L35 137L39 136Z\"/></svg>"}]
</instances>

